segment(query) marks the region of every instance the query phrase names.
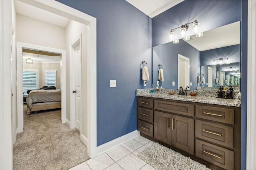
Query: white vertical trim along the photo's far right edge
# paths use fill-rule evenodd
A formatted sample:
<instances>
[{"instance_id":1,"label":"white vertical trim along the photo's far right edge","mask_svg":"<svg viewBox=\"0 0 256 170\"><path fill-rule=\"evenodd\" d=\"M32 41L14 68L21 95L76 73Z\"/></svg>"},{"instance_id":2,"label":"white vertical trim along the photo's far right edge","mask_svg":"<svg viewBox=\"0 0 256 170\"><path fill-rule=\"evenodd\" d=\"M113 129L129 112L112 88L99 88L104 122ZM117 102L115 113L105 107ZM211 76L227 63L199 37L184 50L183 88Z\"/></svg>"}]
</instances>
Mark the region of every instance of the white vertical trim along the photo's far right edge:
<instances>
[{"instance_id":1,"label":"white vertical trim along the photo's far right edge","mask_svg":"<svg viewBox=\"0 0 256 170\"><path fill-rule=\"evenodd\" d=\"M248 0L246 169L256 169L256 1Z\"/></svg>"}]
</instances>

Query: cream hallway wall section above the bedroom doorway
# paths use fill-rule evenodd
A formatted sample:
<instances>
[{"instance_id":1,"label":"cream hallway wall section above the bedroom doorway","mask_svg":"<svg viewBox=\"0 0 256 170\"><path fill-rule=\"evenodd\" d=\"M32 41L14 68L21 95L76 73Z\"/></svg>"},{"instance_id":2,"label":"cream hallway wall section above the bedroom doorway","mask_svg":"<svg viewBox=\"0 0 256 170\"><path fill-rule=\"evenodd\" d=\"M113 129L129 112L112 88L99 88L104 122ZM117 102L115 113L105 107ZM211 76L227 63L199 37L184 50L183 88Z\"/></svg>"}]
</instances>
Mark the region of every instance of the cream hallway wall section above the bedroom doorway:
<instances>
[{"instance_id":1,"label":"cream hallway wall section above the bedroom doorway","mask_svg":"<svg viewBox=\"0 0 256 170\"><path fill-rule=\"evenodd\" d=\"M16 28L18 42L66 49L63 27L17 14Z\"/></svg>"}]
</instances>

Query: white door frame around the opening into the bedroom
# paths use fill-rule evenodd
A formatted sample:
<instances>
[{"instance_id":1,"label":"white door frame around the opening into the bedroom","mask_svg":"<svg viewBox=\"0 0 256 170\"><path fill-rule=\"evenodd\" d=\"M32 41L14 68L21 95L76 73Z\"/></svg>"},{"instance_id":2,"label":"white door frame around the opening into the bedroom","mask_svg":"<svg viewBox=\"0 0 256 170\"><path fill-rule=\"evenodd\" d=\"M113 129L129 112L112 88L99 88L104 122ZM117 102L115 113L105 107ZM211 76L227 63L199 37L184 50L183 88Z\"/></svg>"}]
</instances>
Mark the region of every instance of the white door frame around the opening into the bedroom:
<instances>
[{"instance_id":1,"label":"white door frame around the opening into the bedroom","mask_svg":"<svg viewBox=\"0 0 256 170\"><path fill-rule=\"evenodd\" d=\"M61 54L60 62L60 88L61 88L61 120L62 123L66 123L66 51L61 49L54 49L50 47L43 47L40 45L33 45L28 43L16 42L17 48L17 129L18 133L23 132L24 127L24 117L23 117L23 80L22 80L22 70L23 70L23 59L22 59L22 49L34 49L36 51L47 51L50 53Z\"/></svg>"}]
</instances>

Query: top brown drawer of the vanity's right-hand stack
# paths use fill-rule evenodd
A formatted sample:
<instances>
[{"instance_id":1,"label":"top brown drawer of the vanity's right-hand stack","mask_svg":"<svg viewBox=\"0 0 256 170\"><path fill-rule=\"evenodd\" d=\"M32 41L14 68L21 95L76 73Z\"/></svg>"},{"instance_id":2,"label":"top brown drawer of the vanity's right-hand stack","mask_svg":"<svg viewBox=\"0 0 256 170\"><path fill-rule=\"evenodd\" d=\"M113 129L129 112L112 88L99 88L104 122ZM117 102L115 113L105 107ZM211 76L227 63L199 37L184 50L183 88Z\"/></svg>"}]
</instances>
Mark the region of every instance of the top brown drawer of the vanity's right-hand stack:
<instances>
[{"instance_id":1,"label":"top brown drawer of the vanity's right-hand stack","mask_svg":"<svg viewBox=\"0 0 256 170\"><path fill-rule=\"evenodd\" d=\"M196 117L234 125L234 109L196 105Z\"/></svg>"}]
</instances>

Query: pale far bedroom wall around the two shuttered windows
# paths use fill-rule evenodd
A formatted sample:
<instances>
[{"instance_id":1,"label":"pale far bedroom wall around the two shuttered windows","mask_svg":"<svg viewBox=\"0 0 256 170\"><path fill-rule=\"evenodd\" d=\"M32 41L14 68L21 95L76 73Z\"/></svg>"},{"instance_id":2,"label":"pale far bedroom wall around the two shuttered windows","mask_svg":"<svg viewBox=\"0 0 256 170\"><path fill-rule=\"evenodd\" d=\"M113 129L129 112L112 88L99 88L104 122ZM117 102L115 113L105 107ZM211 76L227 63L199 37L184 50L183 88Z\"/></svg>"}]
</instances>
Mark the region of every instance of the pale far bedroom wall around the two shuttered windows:
<instances>
[{"instance_id":1,"label":"pale far bedroom wall around the two shuttered windows","mask_svg":"<svg viewBox=\"0 0 256 170\"><path fill-rule=\"evenodd\" d=\"M58 72L58 89L60 89L60 63L36 63L27 64L23 62L23 69L38 69L38 88L45 86L44 70L57 70Z\"/></svg>"}]
</instances>

